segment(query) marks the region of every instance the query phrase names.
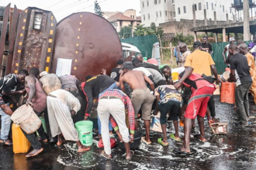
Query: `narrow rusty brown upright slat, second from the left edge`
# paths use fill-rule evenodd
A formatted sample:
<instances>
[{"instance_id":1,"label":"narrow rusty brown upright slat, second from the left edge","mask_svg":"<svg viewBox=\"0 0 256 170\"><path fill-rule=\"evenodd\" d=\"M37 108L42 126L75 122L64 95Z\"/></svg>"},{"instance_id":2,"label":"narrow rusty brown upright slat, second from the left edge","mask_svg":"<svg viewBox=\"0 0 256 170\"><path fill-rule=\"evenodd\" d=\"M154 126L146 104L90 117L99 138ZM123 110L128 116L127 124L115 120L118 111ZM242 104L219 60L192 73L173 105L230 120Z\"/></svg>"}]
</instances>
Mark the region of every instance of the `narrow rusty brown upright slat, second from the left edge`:
<instances>
[{"instance_id":1,"label":"narrow rusty brown upright slat, second from the left edge","mask_svg":"<svg viewBox=\"0 0 256 170\"><path fill-rule=\"evenodd\" d=\"M18 17L19 17L19 12L18 9L16 8L16 5L14 5L13 9L13 15L12 15L12 28L10 29L9 32L9 55L7 58L7 65L6 65L6 70L5 70L5 75L11 73L12 70L12 56L13 56L13 49L14 49L14 42L15 42L15 36L16 36L16 29L17 29L17 23L18 23Z\"/></svg>"}]
</instances>

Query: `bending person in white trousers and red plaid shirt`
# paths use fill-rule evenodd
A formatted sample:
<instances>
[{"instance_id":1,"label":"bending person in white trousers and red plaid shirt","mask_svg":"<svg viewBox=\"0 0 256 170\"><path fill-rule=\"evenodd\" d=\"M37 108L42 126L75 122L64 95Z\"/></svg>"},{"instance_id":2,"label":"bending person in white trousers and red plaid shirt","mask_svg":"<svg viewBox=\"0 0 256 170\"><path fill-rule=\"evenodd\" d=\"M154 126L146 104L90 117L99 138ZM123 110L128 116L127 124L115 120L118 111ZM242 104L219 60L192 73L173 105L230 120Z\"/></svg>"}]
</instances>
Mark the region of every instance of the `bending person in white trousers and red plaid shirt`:
<instances>
[{"instance_id":1,"label":"bending person in white trousers and red plaid shirt","mask_svg":"<svg viewBox=\"0 0 256 170\"><path fill-rule=\"evenodd\" d=\"M135 131L134 110L130 98L121 90L106 90L102 93L101 97L99 97L97 110L102 123L102 141L104 145L104 151L102 151L101 155L105 158L112 158L108 133L110 117L113 128L126 147L126 159L130 160L134 152L130 151L129 141L131 143L133 142ZM126 110L128 112L130 135L126 127Z\"/></svg>"}]
</instances>

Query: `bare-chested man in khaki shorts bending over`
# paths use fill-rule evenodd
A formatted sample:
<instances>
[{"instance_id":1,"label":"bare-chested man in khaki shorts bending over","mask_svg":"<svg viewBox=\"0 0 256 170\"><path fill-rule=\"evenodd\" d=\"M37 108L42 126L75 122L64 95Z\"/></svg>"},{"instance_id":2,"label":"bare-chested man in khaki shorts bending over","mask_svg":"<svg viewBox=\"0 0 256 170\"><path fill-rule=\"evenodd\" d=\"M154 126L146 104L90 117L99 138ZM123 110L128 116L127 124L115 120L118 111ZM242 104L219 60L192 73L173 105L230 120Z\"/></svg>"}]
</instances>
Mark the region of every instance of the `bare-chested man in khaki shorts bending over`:
<instances>
[{"instance_id":1,"label":"bare-chested man in khaki shorts bending over","mask_svg":"<svg viewBox=\"0 0 256 170\"><path fill-rule=\"evenodd\" d=\"M133 63L125 62L123 63L123 72L124 75L120 77L119 83L121 90L125 92L124 82L128 83L130 88L133 90L131 94L131 100L133 103L133 108L135 112L135 117L141 108L142 110L142 119L145 122L146 129L146 137L141 138L144 143L147 145L151 144L149 132L150 132L150 114L152 104L154 102L154 83L142 72L133 71ZM146 82L150 84L150 90L147 88ZM136 122L136 130L137 130L137 120Z\"/></svg>"}]
</instances>

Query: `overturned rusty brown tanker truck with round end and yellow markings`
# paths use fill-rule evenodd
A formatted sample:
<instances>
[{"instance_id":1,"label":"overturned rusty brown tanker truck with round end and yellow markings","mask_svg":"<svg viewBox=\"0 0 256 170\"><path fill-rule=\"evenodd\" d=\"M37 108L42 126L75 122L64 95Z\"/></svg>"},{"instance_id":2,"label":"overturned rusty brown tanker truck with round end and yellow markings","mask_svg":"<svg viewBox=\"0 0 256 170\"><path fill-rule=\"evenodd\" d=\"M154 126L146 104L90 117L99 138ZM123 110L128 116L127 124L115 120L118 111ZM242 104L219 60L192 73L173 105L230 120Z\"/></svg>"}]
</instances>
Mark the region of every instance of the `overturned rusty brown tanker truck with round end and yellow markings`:
<instances>
[{"instance_id":1,"label":"overturned rusty brown tanker truck with round end and yellow markings","mask_svg":"<svg viewBox=\"0 0 256 170\"><path fill-rule=\"evenodd\" d=\"M9 17L9 12L5 14L4 18ZM18 24L9 37L16 38L13 49L0 56L2 76L37 67L40 72L71 74L84 81L85 76L97 75L102 69L110 73L116 61L123 59L116 29L93 13L74 13L57 23L52 12L28 7L12 19L12 26L13 22Z\"/></svg>"}]
</instances>

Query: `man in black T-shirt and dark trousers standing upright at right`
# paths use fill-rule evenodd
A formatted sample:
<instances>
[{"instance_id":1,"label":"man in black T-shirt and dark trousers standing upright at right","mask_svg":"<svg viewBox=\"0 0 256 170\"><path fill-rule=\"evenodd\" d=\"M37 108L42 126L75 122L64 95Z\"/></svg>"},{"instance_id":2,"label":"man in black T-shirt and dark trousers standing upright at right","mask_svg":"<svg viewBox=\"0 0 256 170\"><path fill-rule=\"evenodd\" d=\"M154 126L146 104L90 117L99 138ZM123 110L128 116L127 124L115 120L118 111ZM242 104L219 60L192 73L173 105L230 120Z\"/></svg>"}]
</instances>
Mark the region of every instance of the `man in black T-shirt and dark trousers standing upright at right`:
<instances>
[{"instance_id":1,"label":"man in black T-shirt and dark trousers standing upright at right","mask_svg":"<svg viewBox=\"0 0 256 170\"><path fill-rule=\"evenodd\" d=\"M230 44L229 46L230 54L230 79L229 81L235 81L235 73L240 79L240 85L236 87L236 106L237 114L240 117L240 126L246 127L248 125L249 114L249 101L248 93L251 87L251 75L249 72L249 66L247 63L247 58L243 54L238 53L238 48L236 44Z\"/></svg>"}]
</instances>

